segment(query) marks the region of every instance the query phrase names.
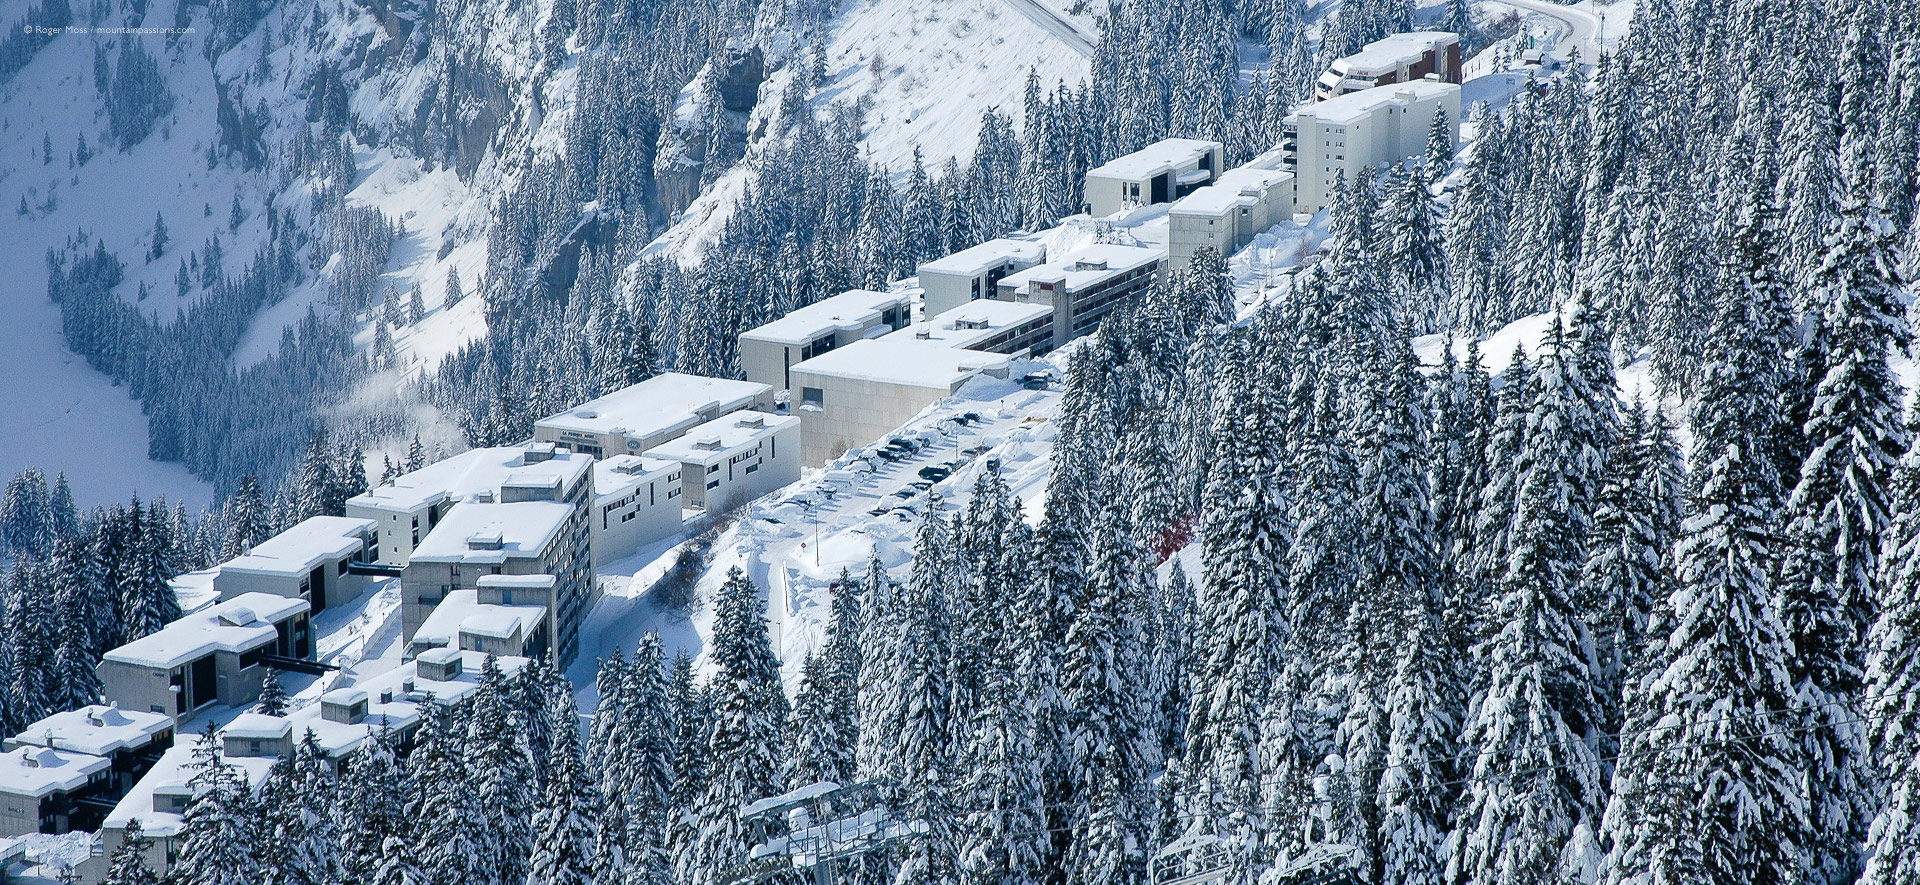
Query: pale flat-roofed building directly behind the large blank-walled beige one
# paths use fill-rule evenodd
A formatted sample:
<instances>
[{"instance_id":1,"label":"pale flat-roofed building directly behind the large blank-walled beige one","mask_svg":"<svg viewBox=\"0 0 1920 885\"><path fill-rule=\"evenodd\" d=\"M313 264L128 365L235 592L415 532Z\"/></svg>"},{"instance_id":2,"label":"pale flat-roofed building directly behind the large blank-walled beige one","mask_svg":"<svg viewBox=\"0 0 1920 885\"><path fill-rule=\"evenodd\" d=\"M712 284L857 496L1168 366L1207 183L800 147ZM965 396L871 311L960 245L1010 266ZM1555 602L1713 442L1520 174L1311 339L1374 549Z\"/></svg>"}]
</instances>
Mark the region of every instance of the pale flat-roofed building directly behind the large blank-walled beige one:
<instances>
[{"instance_id":1,"label":"pale flat-roofed building directly behind the large blank-walled beige one","mask_svg":"<svg viewBox=\"0 0 1920 885\"><path fill-rule=\"evenodd\" d=\"M795 363L904 328L908 319L912 319L912 299L906 294L847 290L741 332L739 367L749 382L766 384L772 390L791 390L787 371ZM712 419L718 415L707 415L701 420ZM653 445L662 442L666 440Z\"/></svg>"}]
</instances>

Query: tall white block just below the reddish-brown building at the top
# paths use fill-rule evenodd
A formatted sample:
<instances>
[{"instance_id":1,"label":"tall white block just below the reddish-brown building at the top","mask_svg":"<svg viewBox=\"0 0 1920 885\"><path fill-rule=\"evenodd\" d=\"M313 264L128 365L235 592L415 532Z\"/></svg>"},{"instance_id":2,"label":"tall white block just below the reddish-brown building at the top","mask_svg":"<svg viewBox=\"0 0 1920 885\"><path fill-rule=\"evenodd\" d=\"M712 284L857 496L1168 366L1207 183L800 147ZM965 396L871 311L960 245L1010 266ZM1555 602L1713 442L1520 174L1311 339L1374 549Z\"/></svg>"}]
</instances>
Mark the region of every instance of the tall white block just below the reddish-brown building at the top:
<instances>
[{"instance_id":1,"label":"tall white block just below the reddish-brown building at the top","mask_svg":"<svg viewBox=\"0 0 1920 885\"><path fill-rule=\"evenodd\" d=\"M1398 163L1427 152L1427 131L1446 111L1450 140L1459 142L1459 86L1413 81L1329 98L1281 123L1284 165L1294 173L1294 211L1319 211L1340 179L1361 167Z\"/></svg>"}]
</instances>

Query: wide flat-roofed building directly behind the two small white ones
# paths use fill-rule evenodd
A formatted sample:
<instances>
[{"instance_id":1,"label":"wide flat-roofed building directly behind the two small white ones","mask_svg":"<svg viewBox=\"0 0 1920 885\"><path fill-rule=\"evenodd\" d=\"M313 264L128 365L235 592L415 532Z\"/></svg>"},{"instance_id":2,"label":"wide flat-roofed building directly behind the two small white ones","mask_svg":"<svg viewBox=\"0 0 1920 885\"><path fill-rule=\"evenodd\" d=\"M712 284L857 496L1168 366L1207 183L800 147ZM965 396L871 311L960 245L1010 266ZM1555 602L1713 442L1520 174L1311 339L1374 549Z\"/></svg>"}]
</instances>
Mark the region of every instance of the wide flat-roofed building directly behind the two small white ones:
<instances>
[{"instance_id":1,"label":"wide flat-roofed building directly behind the two small white ones","mask_svg":"<svg viewBox=\"0 0 1920 885\"><path fill-rule=\"evenodd\" d=\"M637 455L693 424L772 403L768 384L664 372L536 420L534 440L597 459Z\"/></svg>"}]
</instances>

